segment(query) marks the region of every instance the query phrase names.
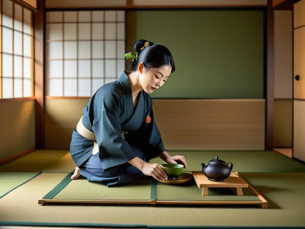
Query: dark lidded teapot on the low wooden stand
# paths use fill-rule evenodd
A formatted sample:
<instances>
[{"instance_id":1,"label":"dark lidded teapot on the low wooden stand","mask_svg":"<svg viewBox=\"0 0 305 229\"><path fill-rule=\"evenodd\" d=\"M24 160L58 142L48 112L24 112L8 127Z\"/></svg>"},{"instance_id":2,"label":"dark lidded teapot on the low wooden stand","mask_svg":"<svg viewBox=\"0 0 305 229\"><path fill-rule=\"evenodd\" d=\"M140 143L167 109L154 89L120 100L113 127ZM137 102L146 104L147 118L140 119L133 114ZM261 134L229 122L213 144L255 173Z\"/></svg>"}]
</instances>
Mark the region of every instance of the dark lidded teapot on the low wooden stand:
<instances>
[{"instance_id":1,"label":"dark lidded teapot on the low wooden stand","mask_svg":"<svg viewBox=\"0 0 305 229\"><path fill-rule=\"evenodd\" d=\"M231 164L229 167L228 164ZM216 156L215 160L211 160L208 162L208 165L204 163L200 163L202 165L202 172L203 174L210 180L210 181L217 181L221 182L224 179L227 179L231 171L233 169L233 164L231 162L225 162L223 160L218 159Z\"/></svg>"}]
</instances>

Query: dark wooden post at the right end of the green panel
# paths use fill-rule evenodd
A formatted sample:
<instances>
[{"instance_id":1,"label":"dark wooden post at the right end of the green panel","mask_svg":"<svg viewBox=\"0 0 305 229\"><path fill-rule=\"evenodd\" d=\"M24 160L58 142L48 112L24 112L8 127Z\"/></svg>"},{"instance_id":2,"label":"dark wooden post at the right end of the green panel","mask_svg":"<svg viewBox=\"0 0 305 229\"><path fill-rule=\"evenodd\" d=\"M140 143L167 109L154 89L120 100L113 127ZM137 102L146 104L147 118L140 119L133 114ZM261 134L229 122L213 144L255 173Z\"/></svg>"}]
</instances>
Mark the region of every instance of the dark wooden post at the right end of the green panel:
<instances>
[{"instance_id":1,"label":"dark wooden post at the right end of the green panel","mask_svg":"<svg viewBox=\"0 0 305 229\"><path fill-rule=\"evenodd\" d=\"M273 150L274 113L274 9L272 0L267 1L267 78L266 78L266 134L265 150Z\"/></svg>"}]
</instances>

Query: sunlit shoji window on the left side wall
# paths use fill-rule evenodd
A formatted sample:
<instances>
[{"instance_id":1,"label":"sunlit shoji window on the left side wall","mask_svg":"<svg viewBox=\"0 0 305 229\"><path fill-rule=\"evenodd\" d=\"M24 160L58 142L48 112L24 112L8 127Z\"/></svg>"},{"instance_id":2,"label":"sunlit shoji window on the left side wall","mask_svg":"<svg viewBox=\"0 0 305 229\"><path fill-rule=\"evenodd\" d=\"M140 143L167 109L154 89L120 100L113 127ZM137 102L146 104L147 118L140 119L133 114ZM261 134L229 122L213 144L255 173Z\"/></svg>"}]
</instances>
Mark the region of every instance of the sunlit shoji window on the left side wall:
<instances>
[{"instance_id":1,"label":"sunlit shoji window on the left side wall","mask_svg":"<svg viewBox=\"0 0 305 229\"><path fill-rule=\"evenodd\" d=\"M2 0L0 15L0 98L33 96L32 12Z\"/></svg>"}]
</instances>

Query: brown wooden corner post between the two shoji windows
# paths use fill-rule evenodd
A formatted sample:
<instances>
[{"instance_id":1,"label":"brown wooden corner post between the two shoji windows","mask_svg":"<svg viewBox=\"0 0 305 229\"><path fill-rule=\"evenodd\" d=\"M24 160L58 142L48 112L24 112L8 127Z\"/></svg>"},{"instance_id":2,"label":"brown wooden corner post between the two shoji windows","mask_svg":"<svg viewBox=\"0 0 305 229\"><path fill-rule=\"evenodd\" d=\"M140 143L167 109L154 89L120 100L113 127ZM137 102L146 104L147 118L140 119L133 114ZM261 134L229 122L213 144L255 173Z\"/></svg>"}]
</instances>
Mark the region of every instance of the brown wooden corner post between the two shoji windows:
<instances>
[{"instance_id":1,"label":"brown wooden corner post between the two shoji windows","mask_svg":"<svg viewBox=\"0 0 305 229\"><path fill-rule=\"evenodd\" d=\"M38 0L34 14L35 147L45 148L45 0Z\"/></svg>"}]
</instances>

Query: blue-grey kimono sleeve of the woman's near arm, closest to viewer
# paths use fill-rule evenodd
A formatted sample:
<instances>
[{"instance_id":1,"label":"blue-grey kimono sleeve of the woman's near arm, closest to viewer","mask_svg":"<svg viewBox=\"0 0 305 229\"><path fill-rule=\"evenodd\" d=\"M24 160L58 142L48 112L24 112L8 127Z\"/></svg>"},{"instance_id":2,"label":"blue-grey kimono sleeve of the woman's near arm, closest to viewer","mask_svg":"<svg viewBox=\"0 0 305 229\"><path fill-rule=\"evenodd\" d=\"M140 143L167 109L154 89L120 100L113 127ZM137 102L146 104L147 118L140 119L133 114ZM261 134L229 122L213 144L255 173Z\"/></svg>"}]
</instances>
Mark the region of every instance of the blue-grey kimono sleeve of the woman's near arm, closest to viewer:
<instances>
[{"instance_id":1,"label":"blue-grey kimono sleeve of the woman's near arm, closest to viewer","mask_svg":"<svg viewBox=\"0 0 305 229\"><path fill-rule=\"evenodd\" d=\"M99 147L99 159L103 170L126 163L137 157L124 140L120 125L120 99L112 93L99 99L96 106L100 115L95 119L92 129Z\"/></svg>"}]
</instances>

